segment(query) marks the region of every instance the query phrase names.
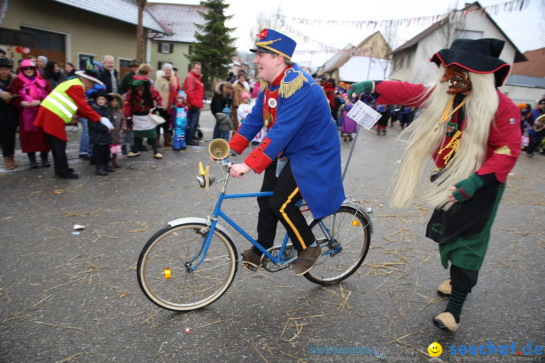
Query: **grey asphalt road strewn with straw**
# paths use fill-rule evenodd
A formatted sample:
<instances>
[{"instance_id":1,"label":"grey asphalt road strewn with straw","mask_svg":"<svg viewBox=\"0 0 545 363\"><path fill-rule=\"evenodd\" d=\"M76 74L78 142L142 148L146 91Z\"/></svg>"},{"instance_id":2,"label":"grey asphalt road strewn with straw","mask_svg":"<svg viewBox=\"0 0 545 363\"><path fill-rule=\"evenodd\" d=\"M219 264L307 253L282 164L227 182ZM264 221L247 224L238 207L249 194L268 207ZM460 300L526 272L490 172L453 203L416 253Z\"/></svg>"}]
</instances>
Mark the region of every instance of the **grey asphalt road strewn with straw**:
<instances>
[{"instance_id":1,"label":"grey asphalt road strewn with straw","mask_svg":"<svg viewBox=\"0 0 545 363\"><path fill-rule=\"evenodd\" d=\"M209 111L201 124L210 138ZM431 322L446 306L436 289L448 276L437 245L423 237L431 211L392 210L387 202L399 131L396 126L376 136L363 130L349 165L347 194L374 209L370 253L356 274L342 286L323 287L290 270L239 270L227 294L186 314L149 302L138 287L136 262L147 239L169 220L210 212L217 190L199 189L195 178L199 161L210 164L206 147L164 149L162 160L144 152L99 177L77 159L80 133L69 133L70 166L79 180L55 180L52 168L2 171L0 361L349 362L380 355L425 362L434 341L443 346L439 358L445 362L545 361L537 355L545 343L545 156L519 158L479 284L464 305L461 327L447 334ZM346 161L350 143L341 144ZM20 153L16 158L25 160ZM261 177L251 173L229 187L251 192L260 185ZM255 235L255 200L224 206ZM78 235L75 224L85 226ZM233 235L239 246L249 245ZM312 353L328 352L329 344L332 352L359 347L361 353ZM458 351L472 344L485 344L487 354ZM524 355L529 344L534 356ZM502 345L510 355L501 355Z\"/></svg>"}]
</instances>

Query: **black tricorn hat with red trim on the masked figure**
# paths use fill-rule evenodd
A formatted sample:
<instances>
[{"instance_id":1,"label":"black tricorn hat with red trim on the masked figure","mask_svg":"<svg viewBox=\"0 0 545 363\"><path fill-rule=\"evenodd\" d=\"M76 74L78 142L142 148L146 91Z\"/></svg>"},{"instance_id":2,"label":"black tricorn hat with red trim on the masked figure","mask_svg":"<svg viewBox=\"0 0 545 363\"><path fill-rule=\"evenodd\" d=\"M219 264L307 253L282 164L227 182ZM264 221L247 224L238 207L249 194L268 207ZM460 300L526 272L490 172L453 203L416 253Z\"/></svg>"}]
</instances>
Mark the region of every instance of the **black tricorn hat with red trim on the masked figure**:
<instances>
[{"instance_id":1,"label":"black tricorn hat with red trim on the masked figure","mask_svg":"<svg viewBox=\"0 0 545 363\"><path fill-rule=\"evenodd\" d=\"M494 73L496 87L500 87L511 66L499 59L505 41L492 38L455 39L449 49L441 49L429 61L448 67L461 66L474 73Z\"/></svg>"}]
</instances>

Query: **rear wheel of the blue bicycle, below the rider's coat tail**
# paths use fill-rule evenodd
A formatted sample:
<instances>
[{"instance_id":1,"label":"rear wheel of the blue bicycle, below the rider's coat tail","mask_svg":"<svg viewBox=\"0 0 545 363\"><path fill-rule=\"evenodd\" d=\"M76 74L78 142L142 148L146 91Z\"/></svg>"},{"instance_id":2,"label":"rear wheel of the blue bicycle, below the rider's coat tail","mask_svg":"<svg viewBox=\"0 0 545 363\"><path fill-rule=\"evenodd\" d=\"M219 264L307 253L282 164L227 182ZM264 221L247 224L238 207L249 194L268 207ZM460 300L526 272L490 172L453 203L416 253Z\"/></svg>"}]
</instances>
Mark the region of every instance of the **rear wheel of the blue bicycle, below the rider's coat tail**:
<instances>
[{"instance_id":1,"label":"rear wheel of the blue bicycle, below the rider's coat tail","mask_svg":"<svg viewBox=\"0 0 545 363\"><path fill-rule=\"evenodd\" d=\"M352 275L365 260L371 241L371 228L364 215L353 207L343 206L310 227L322 256L304 276L320 285L341 282Z\"/></svg>"}]
</instances>

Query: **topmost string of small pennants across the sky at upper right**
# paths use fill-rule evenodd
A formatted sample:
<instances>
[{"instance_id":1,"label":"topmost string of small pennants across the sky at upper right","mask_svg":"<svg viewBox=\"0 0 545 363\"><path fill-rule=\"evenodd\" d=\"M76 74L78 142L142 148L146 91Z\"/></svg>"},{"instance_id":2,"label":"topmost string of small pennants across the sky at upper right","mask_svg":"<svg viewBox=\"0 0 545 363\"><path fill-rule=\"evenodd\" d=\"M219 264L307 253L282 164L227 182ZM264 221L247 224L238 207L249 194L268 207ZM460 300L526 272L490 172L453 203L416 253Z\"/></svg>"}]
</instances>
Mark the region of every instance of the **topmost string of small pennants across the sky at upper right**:
<instances>
[{"instance_id":1,"label":"topmost string of small pennants across the sky at upper right","mask_svg":"<svg viewBox=\"0 0 545 363\"><path fill-rule=\"evenodd\" d=\"M512 11L522 11L530 4L530 0L512 0L501 4L489 5L479 9L457 10L456 15L465 17L473 12L481 12L488 14L499 14L500 11L511 13ZM421 16L405 19L390 19L390 20L361 20L361 21L346 21L346 20L317 20L305 19L302 17L293 17L284 15L284 20L289 20L296 25L304 26L337 26L353 29L376 29L377 27L399 27L399 26L427 26L431 25L450 14L440 14L431 16Z\"/></svg>"}]
</instances>

